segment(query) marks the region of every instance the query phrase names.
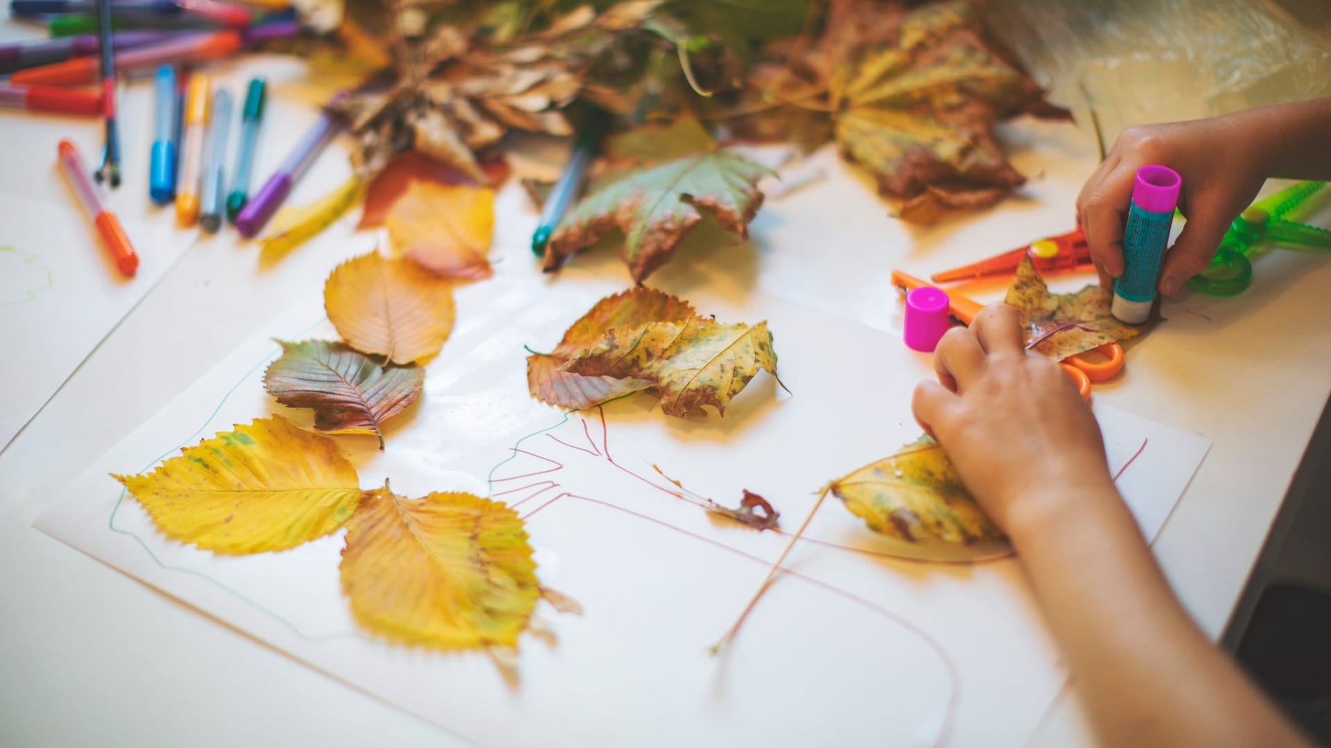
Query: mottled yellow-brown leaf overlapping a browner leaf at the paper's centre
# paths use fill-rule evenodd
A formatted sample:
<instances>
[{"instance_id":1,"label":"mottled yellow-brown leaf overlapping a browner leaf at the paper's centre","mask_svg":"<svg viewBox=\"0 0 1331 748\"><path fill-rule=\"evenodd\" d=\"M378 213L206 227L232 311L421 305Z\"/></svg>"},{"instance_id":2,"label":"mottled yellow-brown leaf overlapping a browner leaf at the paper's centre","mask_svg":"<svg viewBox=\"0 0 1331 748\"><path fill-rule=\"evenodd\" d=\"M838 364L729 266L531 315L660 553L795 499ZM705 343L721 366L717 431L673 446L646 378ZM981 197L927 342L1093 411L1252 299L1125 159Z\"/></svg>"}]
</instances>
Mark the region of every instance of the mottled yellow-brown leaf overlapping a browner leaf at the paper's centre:
<instances>
[{"instance_id":1,"label":"mottled yellow-brown leaf overlapping a browner leaf at the paper's centre","mask_svg":"<svg viewBox=\"0 0 1331 748\"><path fill-rule=\"evenodd\" d=\"M646 379L660 393L662 413L683 417L704 405L721 415L760 369L776 375L767 322L752 327L689 317L611 327L564 370L590 377Z\"/></svg>"}]
</instances>

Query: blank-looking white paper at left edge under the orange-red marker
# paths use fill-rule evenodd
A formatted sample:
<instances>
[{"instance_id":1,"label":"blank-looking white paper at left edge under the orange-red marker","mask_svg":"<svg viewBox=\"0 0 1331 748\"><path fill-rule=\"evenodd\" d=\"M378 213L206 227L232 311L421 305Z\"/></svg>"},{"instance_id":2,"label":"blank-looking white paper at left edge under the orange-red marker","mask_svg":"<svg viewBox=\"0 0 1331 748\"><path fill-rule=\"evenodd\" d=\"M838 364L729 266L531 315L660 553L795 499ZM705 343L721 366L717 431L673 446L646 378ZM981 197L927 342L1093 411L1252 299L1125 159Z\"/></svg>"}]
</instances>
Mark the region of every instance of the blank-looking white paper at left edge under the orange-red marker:
<instances>
[{"instance_id":1,"label":"blank-looking white paper at left edge under the orange-red marker","mask_svg":"<svg viewBox=\"0 0 1331 748\"><path fill-rule=\"evenodd\" d=\"M0 200L0 449L188 246L169 221L120 218L138 254L133 278L76 206ZM108 382L108 393L117 386L133 385Z\"/></svg>"}]
</instances>

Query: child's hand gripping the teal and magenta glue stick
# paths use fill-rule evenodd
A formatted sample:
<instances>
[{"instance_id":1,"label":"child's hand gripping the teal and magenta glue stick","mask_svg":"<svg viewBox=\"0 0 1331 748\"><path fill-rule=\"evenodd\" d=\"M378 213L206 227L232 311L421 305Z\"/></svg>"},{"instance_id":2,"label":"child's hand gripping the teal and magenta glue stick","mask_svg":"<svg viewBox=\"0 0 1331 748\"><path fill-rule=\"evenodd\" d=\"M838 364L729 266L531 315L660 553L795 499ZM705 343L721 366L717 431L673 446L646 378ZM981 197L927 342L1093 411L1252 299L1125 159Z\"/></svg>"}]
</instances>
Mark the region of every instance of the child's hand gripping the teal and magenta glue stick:
<instances>
[{"instance_id":1,"label":"child's hand gripping the teal and magenta glue stick","mask_svg":"<svg viewBox=\"0 0 1331 748\"><path fill-rule=\"evenodd\" d=\"M1258 153L1260 134L1244 116L1129 128L1118 136L1105 162L1077 197L1077 221L1099 273L1111 287L1123 273L1123 226L1137 169L1159 164L1183 180L1179 210L1187 225L1165 254L1159 290L1173 294L1215 256L1234 217L1252 202L1266 180Z\"/></svg>"}]
</instances>

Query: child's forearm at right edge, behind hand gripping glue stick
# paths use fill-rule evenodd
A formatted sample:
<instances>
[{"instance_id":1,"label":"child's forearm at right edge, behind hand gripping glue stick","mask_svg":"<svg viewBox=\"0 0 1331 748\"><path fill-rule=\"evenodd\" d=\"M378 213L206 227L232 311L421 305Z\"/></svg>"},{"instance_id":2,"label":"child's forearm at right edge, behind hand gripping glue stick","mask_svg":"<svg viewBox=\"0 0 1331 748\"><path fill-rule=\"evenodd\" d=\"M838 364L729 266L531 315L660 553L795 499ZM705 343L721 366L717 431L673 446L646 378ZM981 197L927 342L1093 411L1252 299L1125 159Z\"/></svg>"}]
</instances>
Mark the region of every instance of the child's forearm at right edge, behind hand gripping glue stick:
<instances>
[{"instance_id":1,"label":"child's forearm at right edge, behind hand gripping glue stick","mask_svg":"<svg viewBox=\"0 0 1331 748\"><path fill-rule=\"evenodd\" d=\"M1239 112L1243 137L1254 137L1268 177L1331 180L1331 98Z\"/></svg>"}]
</instances>

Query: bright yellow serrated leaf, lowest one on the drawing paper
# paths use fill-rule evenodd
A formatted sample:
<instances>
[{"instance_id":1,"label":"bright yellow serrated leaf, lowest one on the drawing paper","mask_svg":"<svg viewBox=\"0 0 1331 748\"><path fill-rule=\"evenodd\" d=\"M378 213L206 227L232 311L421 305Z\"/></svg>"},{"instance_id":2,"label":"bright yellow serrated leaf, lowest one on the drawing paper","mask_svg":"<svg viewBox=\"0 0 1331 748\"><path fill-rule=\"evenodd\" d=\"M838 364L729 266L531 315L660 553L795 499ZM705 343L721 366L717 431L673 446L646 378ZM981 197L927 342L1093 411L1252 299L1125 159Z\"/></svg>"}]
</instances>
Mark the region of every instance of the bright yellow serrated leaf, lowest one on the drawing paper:
<instances>
[{"instance_id":1,"label":"bright yellow serrated leaf, lowest one on the drawing paper","mask_svg":"<svg viewBox=\"0 0 1331 748\"><path fill-rule=\"evenodd\" d=\"M390 642L514 647L540 596L523 522L471 494L367 491L342 551L351 615Z\"/></svg>"}]
</instances>

